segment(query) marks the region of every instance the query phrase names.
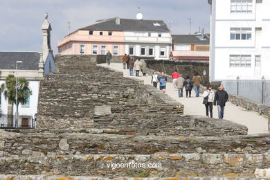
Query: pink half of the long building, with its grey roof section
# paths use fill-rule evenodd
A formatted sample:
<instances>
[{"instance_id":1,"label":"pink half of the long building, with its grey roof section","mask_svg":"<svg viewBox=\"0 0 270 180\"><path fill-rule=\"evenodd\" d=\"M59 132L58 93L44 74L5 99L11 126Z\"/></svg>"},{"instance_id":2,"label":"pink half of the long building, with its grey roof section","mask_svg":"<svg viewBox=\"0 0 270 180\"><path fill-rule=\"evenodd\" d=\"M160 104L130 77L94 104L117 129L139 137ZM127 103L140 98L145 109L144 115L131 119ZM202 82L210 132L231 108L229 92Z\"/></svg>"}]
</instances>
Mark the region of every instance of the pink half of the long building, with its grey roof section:
<instances>
[{"instance_id":1,"label":"pink half of the long building, with its grey roof section","mask_svg":"<svg viewBox=\"0 0 270 180\"><path fill-rule=\"evenodd\" d=\"M124 55L124 32L112 30L105 21L75 30L58 42L58 52L62 55ZM114 22L117 24L117 19ZM100 24L102 26L100 26Z\"/></svg>"}]
</instances>

